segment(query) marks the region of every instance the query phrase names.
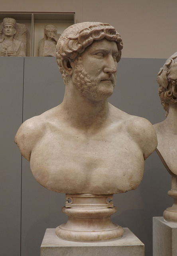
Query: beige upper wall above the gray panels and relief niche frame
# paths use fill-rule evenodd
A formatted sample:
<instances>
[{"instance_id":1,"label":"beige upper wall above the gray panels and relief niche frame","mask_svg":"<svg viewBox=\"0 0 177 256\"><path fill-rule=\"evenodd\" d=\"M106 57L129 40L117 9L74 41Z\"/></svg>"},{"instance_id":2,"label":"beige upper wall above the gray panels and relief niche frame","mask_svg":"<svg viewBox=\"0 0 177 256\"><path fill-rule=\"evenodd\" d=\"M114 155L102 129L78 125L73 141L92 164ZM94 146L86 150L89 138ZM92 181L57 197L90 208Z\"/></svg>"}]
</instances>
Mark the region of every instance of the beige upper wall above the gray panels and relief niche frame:
<instances>
[{"instance_id":1,"label":"beige upper wall above the gray panels and relief niche frame","mask_svg":"<svg viewBox=\"0 0 177 256\"><path fill-rule=\"evenodd\" d=\"M123 57L168 58L177 51L177 0L6 0L1 11L76 12L76 22L108 22Z\"/></svg>"}]
</instances>

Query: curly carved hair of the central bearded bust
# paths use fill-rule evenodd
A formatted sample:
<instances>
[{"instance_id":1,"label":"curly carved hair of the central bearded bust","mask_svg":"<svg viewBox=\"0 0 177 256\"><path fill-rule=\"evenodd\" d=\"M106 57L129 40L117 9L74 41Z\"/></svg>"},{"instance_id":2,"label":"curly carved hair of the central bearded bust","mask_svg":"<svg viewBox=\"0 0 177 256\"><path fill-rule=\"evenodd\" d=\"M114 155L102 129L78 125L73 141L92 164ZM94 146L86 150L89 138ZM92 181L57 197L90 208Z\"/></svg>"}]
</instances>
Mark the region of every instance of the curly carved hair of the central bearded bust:
<instances>
[{"instance_id":1,"label":"curly carved hair of the central bearded bust","mask_svg":"<svg viewBox=\"0 0 177 256\"><path fill-rule=\"evenodd\" d=\"M56 46L57 63L65 84L67 83L69 75L67 75L63 69L62 61L65 58L74 61L94 40L101 40L104 38L117 43L118 57L116 61L119 62L123 48L122 39L115 28L108 23L82 22L65 29Z\"/></svg>"}]
</instances>

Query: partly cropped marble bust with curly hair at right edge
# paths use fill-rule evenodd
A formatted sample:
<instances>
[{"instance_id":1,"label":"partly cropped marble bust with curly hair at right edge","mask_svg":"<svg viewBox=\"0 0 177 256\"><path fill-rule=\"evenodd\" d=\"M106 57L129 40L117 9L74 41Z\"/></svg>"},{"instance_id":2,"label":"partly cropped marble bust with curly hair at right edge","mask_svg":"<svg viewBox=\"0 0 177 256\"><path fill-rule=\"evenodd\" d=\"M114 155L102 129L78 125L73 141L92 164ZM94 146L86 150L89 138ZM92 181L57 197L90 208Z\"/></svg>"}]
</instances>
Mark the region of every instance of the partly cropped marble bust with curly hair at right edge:
<instances>
[{"instance_id":1,"label":"partly cropped marble bust with curly hair at right edge","mask_svg":"<svg viewBox=\"0 0 177 256\"><path fill-rule=\"evenodd\" d=\"M168 195L174 199L173 206L163 212L163 217L169 222L177 222L177 52L160 69L157 83L166 119L154 124L158 140L156 152L172 176Z\"/></svg>"}]
</instances>

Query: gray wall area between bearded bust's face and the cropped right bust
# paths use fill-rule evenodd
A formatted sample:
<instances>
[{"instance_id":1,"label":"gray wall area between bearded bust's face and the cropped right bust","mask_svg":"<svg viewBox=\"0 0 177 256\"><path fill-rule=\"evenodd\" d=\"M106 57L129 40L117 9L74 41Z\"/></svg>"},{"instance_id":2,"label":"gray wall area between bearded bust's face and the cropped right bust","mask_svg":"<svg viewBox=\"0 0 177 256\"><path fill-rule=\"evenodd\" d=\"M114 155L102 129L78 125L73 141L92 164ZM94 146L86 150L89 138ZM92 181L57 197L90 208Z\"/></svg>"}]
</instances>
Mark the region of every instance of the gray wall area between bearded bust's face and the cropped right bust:
<instances>
[{"instance_id":1,"label":"gray wall area between bearded bust's face and the cropped right bust","mask_svg":"<svg viewBox=\"0 0 177 256\"><path fill-rule=\"evenodd\" d=\"M128 114L147 118L152 124L163 120L165 110L156 78L164 63L165 59L122 58L109 102Z\"/></svg>"}]
</instances>

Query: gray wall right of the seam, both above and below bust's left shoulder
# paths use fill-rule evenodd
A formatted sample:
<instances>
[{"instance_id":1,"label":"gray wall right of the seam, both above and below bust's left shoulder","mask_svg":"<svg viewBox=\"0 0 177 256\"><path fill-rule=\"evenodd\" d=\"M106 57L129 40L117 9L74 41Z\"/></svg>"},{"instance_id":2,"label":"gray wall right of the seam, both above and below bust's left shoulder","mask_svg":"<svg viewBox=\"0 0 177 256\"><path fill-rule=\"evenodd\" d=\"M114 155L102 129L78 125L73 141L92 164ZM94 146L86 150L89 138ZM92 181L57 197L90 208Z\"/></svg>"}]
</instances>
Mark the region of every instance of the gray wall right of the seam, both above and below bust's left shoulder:
<instances>
[{"instance_id":1,"label":"gray wall right of the seam, both above and below bust's left shoulder","mask_svg":"<svg viewBox=\"0 0 177 256\"><path fill-rule=\"evenodd\" d=\"M56 59L26 57L24 69L24 121L61 103L65 86ZM55 228L67 218L61 214L65 195L39 185L22 160L22 256L39 256L47 227Z\"/></svg>"}]
</instances>

